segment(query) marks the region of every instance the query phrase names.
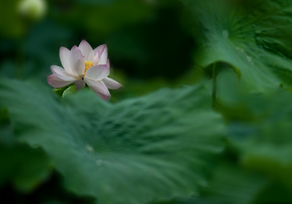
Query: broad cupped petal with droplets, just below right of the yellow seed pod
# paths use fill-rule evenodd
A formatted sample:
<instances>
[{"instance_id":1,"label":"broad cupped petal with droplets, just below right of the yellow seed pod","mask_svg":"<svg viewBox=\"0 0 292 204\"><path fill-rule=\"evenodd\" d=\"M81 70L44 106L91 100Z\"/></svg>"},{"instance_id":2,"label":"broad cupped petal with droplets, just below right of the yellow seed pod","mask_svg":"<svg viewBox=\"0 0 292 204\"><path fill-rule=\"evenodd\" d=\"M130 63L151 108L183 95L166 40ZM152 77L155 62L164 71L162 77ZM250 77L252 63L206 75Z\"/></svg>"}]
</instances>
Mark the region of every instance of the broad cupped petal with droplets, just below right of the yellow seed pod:
<instances>
[{"instance_id":1,"label":"broad cupped petal with droplets, just below right of the yellow seed pod","mask_svg":"<svg viewBox=\"0 0 292 204\"><path fill-rule=\"evenodd\" d=\"M85 76L89 79L98 81L109 75L109 68L106 64L99 64L89 68L85 72Z\"/></svg>"}]
</instances>

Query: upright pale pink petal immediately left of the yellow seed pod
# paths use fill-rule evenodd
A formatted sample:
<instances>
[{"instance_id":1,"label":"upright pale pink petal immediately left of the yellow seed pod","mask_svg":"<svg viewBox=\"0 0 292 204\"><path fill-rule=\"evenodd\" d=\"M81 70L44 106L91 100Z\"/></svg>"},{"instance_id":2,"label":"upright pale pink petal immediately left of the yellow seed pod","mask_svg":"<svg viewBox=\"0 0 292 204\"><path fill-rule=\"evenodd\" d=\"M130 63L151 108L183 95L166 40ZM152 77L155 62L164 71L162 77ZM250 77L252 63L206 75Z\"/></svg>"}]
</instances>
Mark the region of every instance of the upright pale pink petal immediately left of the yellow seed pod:
<instances>
[{"instance_id":1,"label":"upright pale pink petal immediately left of the yellow seed pod","mask_svg":"<svg viewBox=\"0 0 292 204\"><path fill-rule=\"evenodd\" d=\"M69 63L73 75L82 78L85 70L85 63L83 55L76 45L74 45L70 51Z\"/></svg>"}]
</instances>

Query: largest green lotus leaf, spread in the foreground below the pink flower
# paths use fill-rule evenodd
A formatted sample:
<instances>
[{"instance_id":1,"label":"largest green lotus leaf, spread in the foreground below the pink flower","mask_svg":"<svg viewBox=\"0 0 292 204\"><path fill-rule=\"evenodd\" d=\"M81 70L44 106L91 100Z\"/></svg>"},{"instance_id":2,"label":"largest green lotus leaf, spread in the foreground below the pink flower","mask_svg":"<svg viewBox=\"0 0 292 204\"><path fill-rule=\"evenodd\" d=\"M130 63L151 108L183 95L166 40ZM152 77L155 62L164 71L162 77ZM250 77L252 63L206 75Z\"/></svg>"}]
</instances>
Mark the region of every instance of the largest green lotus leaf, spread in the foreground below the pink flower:
<instances>
[{"instance_id":1,"label":"largest green lotus leaf, spread in the foreground below the pink flower","mask_svg":"<svg viewBox=\"0 0 292 204\"><path fill-rule=\"evenodd\" d=\"M111 104L89 90L60 101L46 89L2 80L0 103L19 140L41 145L65 186L98 203L197 194L223 146L223 119L201 86Z\"/></svg>"}]
</instances>

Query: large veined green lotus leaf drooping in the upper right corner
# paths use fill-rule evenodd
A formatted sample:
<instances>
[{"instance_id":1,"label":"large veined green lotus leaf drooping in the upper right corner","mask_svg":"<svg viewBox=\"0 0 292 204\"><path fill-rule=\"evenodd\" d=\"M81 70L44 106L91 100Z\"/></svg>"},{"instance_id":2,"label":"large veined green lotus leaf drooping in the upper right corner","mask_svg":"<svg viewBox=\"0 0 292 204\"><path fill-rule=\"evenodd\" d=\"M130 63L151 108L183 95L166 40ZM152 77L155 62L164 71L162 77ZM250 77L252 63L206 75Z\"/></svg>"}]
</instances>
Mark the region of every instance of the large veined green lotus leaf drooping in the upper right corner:
<instances>
[{"instance_id":1,"label":"large veined green lotus leaf drooping in the upper right corner","mask_svg":"<svg viewBox=\"0 0 292 204\"><path fill-rule=\"evenodd\" d=\"M231 64L251 92L292 85L291 0L182 1L198 42L196 64Z\"/></svg>"}]
</instances>

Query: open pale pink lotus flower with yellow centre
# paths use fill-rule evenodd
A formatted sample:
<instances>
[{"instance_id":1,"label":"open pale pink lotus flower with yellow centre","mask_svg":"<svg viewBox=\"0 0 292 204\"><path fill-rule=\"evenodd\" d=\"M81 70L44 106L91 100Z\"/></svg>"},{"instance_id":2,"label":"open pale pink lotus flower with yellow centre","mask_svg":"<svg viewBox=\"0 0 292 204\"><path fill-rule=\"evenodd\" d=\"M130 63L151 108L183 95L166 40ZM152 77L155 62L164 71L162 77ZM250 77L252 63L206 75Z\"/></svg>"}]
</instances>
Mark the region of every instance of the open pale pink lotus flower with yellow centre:
<instances>
[{"instance_id":1,"label":"open pale pink lotus flower with yellow centre","mask_svg":"<svg viewBox=\"0 0 292 204\"><path fill-rule=\"evenodd\" d=\"M47 76L47 81L52 87L64 87L75 82L77 90L80 90L86 83L105 100L111 96L108 89L122 87L119 82L107 77L109 59L106 45L100 45L93 50L85 40L82 40L79 47L74 45L71 51L61 47L60 60L64 69L52 65L53 74Z\"/></svg>"}]
</instances>

